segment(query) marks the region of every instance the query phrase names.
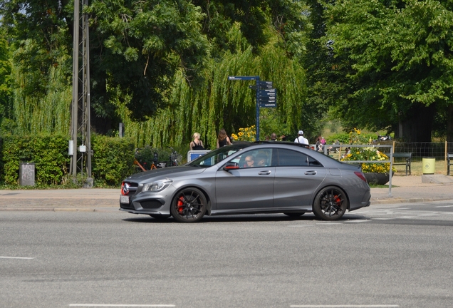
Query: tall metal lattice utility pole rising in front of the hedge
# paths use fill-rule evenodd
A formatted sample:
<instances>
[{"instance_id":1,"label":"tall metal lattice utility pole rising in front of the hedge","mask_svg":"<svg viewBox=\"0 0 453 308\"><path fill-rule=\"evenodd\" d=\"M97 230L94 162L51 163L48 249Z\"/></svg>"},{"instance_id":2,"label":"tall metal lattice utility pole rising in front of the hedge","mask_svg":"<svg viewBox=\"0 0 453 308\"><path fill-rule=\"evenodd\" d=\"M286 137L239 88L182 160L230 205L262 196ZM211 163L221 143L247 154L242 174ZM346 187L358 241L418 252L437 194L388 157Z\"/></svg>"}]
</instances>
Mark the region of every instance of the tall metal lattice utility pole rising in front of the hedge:
<instances>
[{"instance_id":1,"label":"tall metal lattice utility pole rising in front of the hedge","mask_svg":"<svg viewBox=\"0 0 453 308\"><path fill-rule=\"evenodd\" d=\"M69 173L76 180L80 171L84 180L83 187L93 187L91 178L91 130L90 130L90 37L88 31L88 14L82 14L80 9L88 6L88 0L74 1L73 29L73 101L71 108L71 138L69 155L71 165ZM80 38L80 32L82 37ZM79 69L79 62L82 67ZM81 91L79 91L79 86ZM78 118L80 109L80 119ZM78 146L80 144L80 146ZM80 157L78 157L80 152Z\"/></svg>"}]
</instances>

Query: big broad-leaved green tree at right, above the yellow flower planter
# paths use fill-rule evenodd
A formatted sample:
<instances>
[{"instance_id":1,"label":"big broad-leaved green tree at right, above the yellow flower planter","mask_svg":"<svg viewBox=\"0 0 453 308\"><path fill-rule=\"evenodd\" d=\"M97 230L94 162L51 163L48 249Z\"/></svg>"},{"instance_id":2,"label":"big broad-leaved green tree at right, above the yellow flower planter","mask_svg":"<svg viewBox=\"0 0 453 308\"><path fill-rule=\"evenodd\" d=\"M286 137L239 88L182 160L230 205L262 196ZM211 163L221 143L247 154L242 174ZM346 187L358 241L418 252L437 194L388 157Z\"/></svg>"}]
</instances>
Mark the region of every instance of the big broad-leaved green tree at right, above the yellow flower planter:
<instances>
[{"instance_id":1,"label":"big broad-leaved green tree at right, above the yellow flower planter","mask_svg":"<svg viewBox=\"0 0 453 308\"><path fill-rule=\"evenodd\" d=\"M340 71L343 92L338 115L408 141L430 141L435 113L453 103L452 1L343 0L326 16L325 43L333 42L332 72Z\"/></svg>"}]
</instances>

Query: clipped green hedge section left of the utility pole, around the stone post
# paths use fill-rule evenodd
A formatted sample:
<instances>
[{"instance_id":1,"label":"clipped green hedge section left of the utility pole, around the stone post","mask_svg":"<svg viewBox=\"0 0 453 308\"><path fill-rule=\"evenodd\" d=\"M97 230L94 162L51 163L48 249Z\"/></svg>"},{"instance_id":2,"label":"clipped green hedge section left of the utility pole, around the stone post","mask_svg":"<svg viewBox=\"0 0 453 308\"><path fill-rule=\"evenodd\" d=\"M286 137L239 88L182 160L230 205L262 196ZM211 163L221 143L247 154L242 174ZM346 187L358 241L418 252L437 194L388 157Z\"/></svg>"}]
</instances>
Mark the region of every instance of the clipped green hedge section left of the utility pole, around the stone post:
<instances>
[{"instance_id":1,"label":"clipped green hedge section left of the utility pole, around the stone post","mask_svg":"<svg viewBox=\"0 0 453 308\"><path fill-rule=\"evenodd\" d=\"M68 174L68 138L61 135L4 136L0 147L0 182L19 184L21 163L34 163L36 185L61 185Z\"/></svg>"}]
</instances>

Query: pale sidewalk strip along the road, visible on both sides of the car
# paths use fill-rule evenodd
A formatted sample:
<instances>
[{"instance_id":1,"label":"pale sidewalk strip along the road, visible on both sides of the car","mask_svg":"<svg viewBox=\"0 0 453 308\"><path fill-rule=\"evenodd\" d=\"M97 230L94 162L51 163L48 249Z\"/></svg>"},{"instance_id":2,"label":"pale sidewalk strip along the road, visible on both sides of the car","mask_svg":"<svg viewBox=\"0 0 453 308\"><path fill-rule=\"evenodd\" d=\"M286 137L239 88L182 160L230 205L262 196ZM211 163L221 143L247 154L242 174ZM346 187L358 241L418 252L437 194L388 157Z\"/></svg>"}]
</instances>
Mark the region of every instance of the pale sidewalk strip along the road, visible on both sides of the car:
<instances>
[{"instance_id":1,"label":"pale sidewalk strip along the road, visible on both sides of the car","mask_svg":"<svg viewBox=\"0 0 453 308\"><path fill-rule=\"evenodd\" d=\"M0 211L119 212L120 189L0 190ZM453 176L395 175L392 188L371 188L371 206L453 200Z\"/></svg>"}]
</instances>

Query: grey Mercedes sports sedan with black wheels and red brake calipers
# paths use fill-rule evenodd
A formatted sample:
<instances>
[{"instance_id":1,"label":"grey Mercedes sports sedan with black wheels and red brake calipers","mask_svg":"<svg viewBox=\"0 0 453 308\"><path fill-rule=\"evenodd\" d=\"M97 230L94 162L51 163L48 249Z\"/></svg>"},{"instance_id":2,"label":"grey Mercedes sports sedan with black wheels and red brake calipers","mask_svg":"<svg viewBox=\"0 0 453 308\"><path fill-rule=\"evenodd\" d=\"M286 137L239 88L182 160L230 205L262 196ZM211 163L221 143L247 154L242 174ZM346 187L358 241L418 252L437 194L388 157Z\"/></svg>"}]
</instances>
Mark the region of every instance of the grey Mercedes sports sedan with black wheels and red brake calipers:
<instances>
[{"instance_id":1,"label":"grey Mercedes sports sedan with black wheels and red brake calipers","mask_svg":"<svg viewBox=\"0 0 453 308\"><path fill-rule=\"evenodd\" d=\"M370 205L360 167L298 143L237 142L186 165L126 178L120 210L156 219L198 222L204 215L313 212L338 220Z\"/></svg>"}]
</instances>

